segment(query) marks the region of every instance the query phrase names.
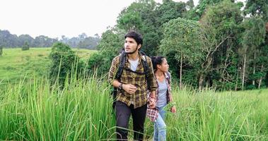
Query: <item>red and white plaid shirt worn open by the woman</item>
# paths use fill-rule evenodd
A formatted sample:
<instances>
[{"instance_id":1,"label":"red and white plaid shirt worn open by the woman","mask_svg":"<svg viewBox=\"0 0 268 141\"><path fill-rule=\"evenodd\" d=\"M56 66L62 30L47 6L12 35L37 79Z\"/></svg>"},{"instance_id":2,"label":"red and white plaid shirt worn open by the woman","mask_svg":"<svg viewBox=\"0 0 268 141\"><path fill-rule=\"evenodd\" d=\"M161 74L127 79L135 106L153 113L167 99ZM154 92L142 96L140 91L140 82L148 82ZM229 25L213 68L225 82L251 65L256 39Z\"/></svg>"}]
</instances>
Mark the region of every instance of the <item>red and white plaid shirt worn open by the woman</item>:
<instances>
[{"instance_id":1,"label":"red and white plaid shirt worn open by the woman","mask_svg":"<svg viewBox=\"0 0 268 141\"><path fill-rule=\"evenodd\" d=\"M167 91L167 103L170 102L170 100L172 100L172 96L171 96L171 75L170 73L165 73L165 82L167 83L168 85L168 91ZM159 87L158 89L156 90L156 102L158 101L158 92L159 92ZM149 100L150 97L149 97ZM158 114L159 114L159 110L157 108L150 108L149 106L147 106L147 113L146 113L146 116L148 116L148 118L155 122L156 121L156 118L158 118Z\"/></svg>"}]
</instances>

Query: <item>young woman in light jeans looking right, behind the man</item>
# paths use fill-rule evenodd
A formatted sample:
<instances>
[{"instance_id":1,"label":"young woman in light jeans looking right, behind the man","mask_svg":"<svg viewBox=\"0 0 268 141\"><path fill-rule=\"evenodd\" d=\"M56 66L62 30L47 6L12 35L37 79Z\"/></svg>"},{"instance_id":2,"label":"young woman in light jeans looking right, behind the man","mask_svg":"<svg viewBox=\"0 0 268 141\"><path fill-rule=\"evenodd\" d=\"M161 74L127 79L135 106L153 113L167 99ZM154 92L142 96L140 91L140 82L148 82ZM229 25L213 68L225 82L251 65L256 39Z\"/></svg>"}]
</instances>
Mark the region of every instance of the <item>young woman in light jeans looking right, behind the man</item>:
<instances>
[{"instance_id":1,"label":"young woman in light jeans looking right, behind the man","mask_svg":"<svg viewBox=\"0 0 268 141\"><path fill-rule=\"evenodd\" d=\"M173 101L171 95L171 78L168 72L168 61L163 56L153 56L152 58L153 70L158 83L158 90L156 90L156 97L149 97L150 101L156 102L156 107L149 107L147 109L147 116L154 122L153 140L165 140L166 125L165 125L165 106ZM171 112L175 113L176 108L172 106Z\"/></svg>"}]
</instances>

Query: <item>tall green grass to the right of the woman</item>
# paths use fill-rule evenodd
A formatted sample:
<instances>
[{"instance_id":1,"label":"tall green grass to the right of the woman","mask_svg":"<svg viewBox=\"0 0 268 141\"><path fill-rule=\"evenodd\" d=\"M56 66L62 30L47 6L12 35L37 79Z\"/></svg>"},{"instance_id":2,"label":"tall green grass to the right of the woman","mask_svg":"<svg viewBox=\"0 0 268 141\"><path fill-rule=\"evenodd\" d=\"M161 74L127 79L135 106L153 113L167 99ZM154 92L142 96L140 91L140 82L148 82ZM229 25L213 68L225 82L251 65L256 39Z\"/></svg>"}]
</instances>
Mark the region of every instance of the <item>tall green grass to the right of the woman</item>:
<instances>
[{"instance_id":1,"label":"tall green grass to the right of the woman","mask_svg":"<svg viewBox=\"0 0 268 141\"><path fill-rule=\"evenodd\" d=\"M168 140L268 140L268 90L175 90Z\"/></svg>"}]
</instances>

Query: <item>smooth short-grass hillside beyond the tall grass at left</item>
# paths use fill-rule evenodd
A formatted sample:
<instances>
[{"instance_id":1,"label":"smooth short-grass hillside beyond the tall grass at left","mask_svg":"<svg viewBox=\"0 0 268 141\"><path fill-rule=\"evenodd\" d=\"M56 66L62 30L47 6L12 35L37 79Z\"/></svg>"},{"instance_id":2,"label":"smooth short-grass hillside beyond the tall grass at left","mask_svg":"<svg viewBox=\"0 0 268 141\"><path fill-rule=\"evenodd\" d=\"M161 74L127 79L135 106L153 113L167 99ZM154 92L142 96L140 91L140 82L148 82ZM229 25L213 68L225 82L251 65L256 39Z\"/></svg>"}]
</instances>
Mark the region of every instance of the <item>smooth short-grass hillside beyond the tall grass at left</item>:
<instances>
[{"instance_id":1,"label":"smooth short-grass hillside beyond the tall grass at left","mask_svg":"<svg viewBox=\"0 0 268 141\"><path fill-rule=\"evenodd\" d=\"M4 49L0 57L0 81L15 82L23 77L46 75L49 72L48 58L51 48ZM94 51L74 49L78 56L86 60Z\"/></svg>"}]
</instances>

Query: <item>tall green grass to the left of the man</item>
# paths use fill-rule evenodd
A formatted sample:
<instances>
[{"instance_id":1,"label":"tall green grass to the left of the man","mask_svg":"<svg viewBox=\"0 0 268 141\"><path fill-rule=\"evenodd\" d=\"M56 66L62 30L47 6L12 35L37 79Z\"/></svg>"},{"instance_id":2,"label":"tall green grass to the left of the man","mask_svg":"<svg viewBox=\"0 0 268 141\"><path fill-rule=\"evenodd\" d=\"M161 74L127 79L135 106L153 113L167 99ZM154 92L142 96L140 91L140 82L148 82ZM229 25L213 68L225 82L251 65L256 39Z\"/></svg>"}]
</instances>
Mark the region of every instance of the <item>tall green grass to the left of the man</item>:
<instances>
[{"instance_id":1,"label":"tall green grass to the left of the man","mask_svg":"<svg viewBox=\"0 0 268 141\"><path fill-rule=\"evenodd\" d=\"M0 92L1 140L103 140L115 119L107 83L71 79L63 90L45 79L5 86Z\"/></svg>"}]
</instances>

